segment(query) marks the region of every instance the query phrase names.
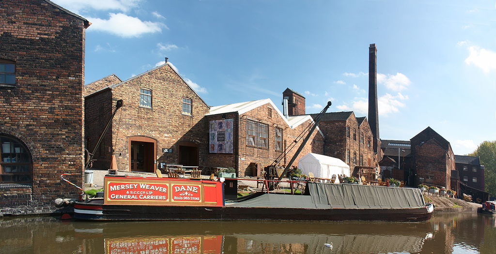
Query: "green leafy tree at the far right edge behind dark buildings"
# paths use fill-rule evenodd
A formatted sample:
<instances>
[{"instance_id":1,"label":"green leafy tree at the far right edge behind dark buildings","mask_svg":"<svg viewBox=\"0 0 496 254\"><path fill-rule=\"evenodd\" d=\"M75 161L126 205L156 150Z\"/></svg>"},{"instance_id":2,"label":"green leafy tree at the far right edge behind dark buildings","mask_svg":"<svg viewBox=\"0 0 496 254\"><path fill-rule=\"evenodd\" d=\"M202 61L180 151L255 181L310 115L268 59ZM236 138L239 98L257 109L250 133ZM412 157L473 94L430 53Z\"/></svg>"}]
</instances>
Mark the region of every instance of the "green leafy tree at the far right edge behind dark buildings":
<instances>
[{"instance_id":1,"label":"green leafy tree at the far right edge behind dark buildings","mask_svg":"<svg viewBox=\"0 0 496 254\"><path fill-rule=\"evenodd\" d=\"M484 141L477 150L468 154L481 157L481 165L484 165L484 183L486 191L496 194L496 141Z\"/></svg>"}]
</instances>

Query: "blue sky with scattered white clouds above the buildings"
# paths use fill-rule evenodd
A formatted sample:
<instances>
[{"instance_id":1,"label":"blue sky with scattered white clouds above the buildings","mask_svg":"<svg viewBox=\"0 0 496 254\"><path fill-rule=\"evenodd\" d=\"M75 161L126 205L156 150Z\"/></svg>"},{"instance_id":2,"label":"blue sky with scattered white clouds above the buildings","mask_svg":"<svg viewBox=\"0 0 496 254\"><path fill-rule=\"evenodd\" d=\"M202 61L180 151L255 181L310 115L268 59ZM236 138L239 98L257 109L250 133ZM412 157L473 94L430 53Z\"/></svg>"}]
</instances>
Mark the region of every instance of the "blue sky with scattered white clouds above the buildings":
<instances>
[{"instance_id":1,"label":"blue sky with scattered white clouds above the buildings","mask_svg":"<svg viewBox=\"0 0 496 254\"><path fill-rule=\"evenodd\" d=\"M281 104L367 116L377 47L381 139L431 126L455 154L496 140L496 3L445 0L53 0L88 19L85 83L169 61L209 105ZM282 106L280 106L282 109Z\"/></svg>"}]
</instances>

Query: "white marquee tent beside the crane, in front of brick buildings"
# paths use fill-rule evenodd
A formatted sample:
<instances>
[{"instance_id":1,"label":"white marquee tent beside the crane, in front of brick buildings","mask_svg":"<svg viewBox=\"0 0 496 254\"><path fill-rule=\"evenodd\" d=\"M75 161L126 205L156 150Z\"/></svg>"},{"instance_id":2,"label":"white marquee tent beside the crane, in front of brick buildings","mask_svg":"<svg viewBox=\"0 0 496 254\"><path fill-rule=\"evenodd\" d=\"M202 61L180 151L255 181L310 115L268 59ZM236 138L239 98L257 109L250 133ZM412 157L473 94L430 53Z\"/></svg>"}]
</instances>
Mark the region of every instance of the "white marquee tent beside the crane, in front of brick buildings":
<instances>
[{"instance_id":1,"label":"white marquee tent beside the crane, in front of brick buildings","mask_svg":"<svg viewBox=\"0 0 496 254\"><path fill-rule=\"evenodd\" d=\"M333 174L350 176L350 166L342 160L316 153L307 153L298 161L298 168L306 175L310 172L314 177L331 178ZM336 177L334 183L338 183Z\"/></svg>"}]
</instances>

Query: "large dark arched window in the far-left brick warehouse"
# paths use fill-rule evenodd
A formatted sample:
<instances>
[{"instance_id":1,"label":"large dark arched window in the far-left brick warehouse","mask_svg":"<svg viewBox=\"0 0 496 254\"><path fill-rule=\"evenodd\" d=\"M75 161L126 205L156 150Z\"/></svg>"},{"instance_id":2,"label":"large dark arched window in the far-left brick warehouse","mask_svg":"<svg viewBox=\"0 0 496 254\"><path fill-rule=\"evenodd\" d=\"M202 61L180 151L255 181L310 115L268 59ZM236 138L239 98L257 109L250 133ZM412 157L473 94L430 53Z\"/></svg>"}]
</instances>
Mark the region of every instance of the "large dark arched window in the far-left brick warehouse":
<instances>
[{"instance_id":1,"label":"large dark arched window in the far-left brick warehouse","mask_svg":"<svg viewBox=\"0 0 496 254\"><path fill-rule=\"evenodd\" d=\"M33 162L19 140L0 136L0 183L30 183Z\"/></svg>"}]
</instances>

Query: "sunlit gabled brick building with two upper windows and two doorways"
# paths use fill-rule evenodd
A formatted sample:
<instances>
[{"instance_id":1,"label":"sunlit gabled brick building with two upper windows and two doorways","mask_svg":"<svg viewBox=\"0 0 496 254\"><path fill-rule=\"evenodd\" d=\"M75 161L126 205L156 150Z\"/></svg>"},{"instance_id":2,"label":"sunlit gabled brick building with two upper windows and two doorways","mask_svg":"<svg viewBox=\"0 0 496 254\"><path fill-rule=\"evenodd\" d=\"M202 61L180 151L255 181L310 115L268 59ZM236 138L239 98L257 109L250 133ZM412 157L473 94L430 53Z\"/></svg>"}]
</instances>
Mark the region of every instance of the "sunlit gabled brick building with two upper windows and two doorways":
<instances>
[{"instance_id":1,"label":"sunlit gabled brick building with two upper windows and two doorways","mask_svg":"<svg viewBox=\"0 0 496 254\"><path fill-rule=\"evenodd\" d=\"M86 86L104 87L85 97L85 141L94 150L122 99L124 106L94 154L93 167L108 169L112 155L118 168L154 172L156 163L198 166L206 164L209 106L167 62L123 82L115 75ZM119 83L117 83L119 82ZM107 86L110 85L110 86ZM160 165L160 164L159 164Z\"/></svg>"}]
</instances>

